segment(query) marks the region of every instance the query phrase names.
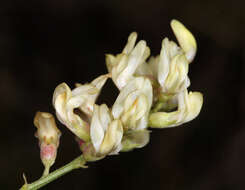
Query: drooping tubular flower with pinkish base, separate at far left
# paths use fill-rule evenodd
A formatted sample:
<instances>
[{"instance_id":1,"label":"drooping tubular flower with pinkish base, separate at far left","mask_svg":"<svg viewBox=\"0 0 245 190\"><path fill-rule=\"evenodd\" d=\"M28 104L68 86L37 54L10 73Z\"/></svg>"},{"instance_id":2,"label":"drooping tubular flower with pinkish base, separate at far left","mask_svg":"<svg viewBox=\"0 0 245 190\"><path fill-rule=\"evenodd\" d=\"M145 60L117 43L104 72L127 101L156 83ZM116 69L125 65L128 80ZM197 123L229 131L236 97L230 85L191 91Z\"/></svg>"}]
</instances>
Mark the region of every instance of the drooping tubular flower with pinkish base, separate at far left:
<instances>
[{"instance_id":1,"label":"drooping tubular flower with pinkish base, separate at far left","mask_svg":"<svg viewBox=\"0 0 245 190\"><path fill-rule=\"evenodd\" d=\"M45 166L44 175L47 175L49 168L55 162L61 133L55 124L53 115L50 113L37 112L34 125L37 127L35 136L39 139L40 157Z\"/></svg>"}]
</instances>

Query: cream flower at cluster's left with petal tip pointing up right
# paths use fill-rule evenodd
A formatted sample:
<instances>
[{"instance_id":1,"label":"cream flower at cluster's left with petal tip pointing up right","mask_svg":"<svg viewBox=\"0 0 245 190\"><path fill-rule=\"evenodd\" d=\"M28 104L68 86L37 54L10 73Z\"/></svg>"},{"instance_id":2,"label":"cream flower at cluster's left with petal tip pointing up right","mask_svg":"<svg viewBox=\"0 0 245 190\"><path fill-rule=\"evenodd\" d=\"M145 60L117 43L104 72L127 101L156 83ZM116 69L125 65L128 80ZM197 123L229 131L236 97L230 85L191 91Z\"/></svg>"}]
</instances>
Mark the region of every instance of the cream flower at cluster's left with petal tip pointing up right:
<instances>
[{"instance_id":1,"label":"cream flower at cluster's left with petal tip pointing up right","mask_svg":"<svg viewBox=\"0 0 245 190\"><path fill-rule=\"evenodd\" d=\"M78 84L77 88L72 91L67 84L62 83L54 91L53 105L57 118L84 141L90 139L88 121L92 116L96 98L108 77L108 74L102 75L89 84ZM77 113L74 113L75 108L79 108L86 118L82 119Z\"/></svg>"}]
</instances>

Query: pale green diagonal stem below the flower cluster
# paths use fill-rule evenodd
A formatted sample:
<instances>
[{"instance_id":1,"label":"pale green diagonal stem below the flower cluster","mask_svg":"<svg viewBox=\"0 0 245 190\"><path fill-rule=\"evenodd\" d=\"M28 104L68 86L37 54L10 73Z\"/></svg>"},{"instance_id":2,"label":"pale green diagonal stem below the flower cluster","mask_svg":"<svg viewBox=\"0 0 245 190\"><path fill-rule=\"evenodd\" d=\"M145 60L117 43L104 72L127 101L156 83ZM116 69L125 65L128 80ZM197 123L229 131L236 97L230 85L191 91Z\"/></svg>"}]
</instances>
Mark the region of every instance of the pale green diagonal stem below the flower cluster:
<instances>
[{"instance_id":1,"label":"pale green diagonal stem below the flower cluster","mask_svg":"<svg viewBox=\"0 0 245 190\"><path fill-rule=\"evenodd\" d=\"M83 156L79 156L70 163L66 164L65 166L53 171L52 173L48 174L45 177L41 177L37 181L34 181L33 183L26 183L24 184L20 190L36 190L39 189L48 183L54 181L55 179L63 176L64 174L78 168L85 168L86 160L83 158Z\"/></svg>"}]
</instances>

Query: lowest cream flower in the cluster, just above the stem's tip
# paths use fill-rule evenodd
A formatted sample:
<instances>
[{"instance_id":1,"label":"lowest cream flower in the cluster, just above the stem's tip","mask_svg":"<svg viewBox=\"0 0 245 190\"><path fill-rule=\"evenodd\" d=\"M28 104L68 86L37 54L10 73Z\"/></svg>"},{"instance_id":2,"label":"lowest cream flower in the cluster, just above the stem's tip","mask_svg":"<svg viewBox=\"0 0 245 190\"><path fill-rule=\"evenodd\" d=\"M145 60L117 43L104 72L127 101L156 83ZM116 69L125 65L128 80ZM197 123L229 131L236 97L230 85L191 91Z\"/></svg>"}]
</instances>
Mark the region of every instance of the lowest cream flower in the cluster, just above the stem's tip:
<instances>
[{"instance_id":1,"label":"lowest cream flower in the cluster, just above the stem's tip","mask_svg":"<svg viewBox=\"0 0 245 190\"><path fill-rule=\"evenodd\" d=\"M121 150L122 123L120 120L113 120L111 112L105 104L94 106L90 135L98 156L117 154Z\"/></svg>"}]
</instances>

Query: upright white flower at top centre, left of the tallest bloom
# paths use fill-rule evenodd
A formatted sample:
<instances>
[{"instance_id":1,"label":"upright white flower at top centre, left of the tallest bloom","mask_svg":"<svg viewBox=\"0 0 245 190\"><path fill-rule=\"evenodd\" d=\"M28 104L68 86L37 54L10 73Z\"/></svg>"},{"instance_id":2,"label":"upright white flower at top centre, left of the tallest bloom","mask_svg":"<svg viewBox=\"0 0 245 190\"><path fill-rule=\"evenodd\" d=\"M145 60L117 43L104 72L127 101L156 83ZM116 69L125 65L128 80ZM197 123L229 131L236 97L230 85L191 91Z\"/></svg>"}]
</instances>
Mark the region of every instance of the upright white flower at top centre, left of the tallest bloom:
<instances>
[{"instance_id":1,"label":"upright white flower at top centre, left of the tallest bloom","mask_svg":"<svg viewBox=\"0 0 245 190\"><path fill-rule=\"evenodd\" d=\"M150 55L150 48L141 40L136 46L137 33L128 37L128 42L122 53L114 56L106 55L106 65L112 75L112 80L121 90L132 78L139 65L145 62Z\"/></svg>"}]
</instances>

